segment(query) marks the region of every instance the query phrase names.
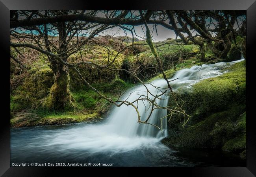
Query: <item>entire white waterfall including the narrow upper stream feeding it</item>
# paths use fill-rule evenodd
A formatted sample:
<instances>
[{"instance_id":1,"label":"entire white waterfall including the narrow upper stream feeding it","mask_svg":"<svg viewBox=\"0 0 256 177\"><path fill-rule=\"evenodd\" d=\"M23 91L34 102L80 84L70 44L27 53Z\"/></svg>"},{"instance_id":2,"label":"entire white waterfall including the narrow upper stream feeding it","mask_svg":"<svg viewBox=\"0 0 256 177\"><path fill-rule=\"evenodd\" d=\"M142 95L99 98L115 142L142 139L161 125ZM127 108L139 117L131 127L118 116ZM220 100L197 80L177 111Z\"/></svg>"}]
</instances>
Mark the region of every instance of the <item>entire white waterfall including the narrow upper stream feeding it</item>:
<instances>
[{"instance_id":1,"label":"entire white waterfall including the narrow upper stream feeding it","mask_svg":"<svg viewBox=\"0 0 256 177\"><path fill-rule=\"evenodd\" d=\"M240 61L243 61L243 59L232 61L229 63L219 62L210 65L195 65L191 68L179 70L171 78L171 80L176 79L170 82L171 87L174 91L180 87L191 87L191 85L197 83L202 79L220 76L221 74L223 74L221 69L223 69L226 65ZM167 82L164 79L156 79L152 81L151 84L156 87L167 88ZM150 90L150 92L154 95L160 94L160 90L156 87L153 87L152 85L146 84L148 90ZM143 85L136 86L126 91L124 95L120 98L120 100L134 101L138 99L141 94L147 94L147 90ZM152 96L150 95L149 98L152 99ZM168 100L168 96L163 95L161 96L161 100L156 100L156 103L160 107L165 107L168 104ZM142 100L139 100L138 104L138 111L141 115L141 120L146 120L151 111L151 109L148 109L150 107L150 104L148 101ZM158 125L160 127L160 118L166 116L166 114L166 109L155 109L152 112L152 115L150 116L148 122L150 124ZM109 129L121 136L143 136L156 138L163 138L167 136L167 118L164 118L162 121L163 131L157 129L152 125L141 123L138 124L137 121L137 112L135 111L134 107L132 107L131 105L121 105L120 107L115 107L111 110L111 112L108 114L108 121L106 122L106 125L109 125Z\"/></svg>"}]
</instances>

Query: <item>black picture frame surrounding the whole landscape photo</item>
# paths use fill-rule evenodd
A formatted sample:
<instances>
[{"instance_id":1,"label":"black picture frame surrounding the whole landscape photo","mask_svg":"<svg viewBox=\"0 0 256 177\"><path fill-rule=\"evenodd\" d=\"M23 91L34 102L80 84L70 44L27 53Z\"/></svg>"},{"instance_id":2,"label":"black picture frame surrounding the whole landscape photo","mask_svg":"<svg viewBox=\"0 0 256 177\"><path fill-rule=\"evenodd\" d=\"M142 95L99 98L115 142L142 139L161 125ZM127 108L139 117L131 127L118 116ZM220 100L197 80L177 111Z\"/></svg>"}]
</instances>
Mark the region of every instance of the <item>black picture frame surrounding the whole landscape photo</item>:
<instances>
[{"instance_id":1,"label":"black picture frame surrounding the whole landscape photo","mask_svg":"<svg viewBox=\"0 0 256 177\"><path fill-rule=\"evenodd\" d=\"M115 169L126 170L133 174L138 168L36 168L36 167L10 167L10 125L9 125L9 11L13 9L225 9L225 10L247 10L247 166L246 167L206 167L206 168L164 168L165 172L190 176L225 176L225 177L252 177L256 175L256 129L254 116L253 96L254 87L252 68L255 56L254 44L256 41L256 2L255 0L141 0L123 2L89 1L83 0L0 0L0 45L2 49L0 71L1 71L1 93L2 116L0 129L0 175L7 176L52 176L57 172L68 175L74 171L77 173L88 173L94 171L94 175L102 171ZM4 90L5 89L5 90ZM9 89L10 90L10 89ZM252 103L250 103L252 101ZM4 114L3 114L4 113ZM152 172L159 168L143 168L142 172ZM161 169L162 170L162 169ZM159 173L163 174L162 172ZM65 176L64 175L64 176ZM89 173L88 173L89 175Z\"/></svg>"}]
</instances>

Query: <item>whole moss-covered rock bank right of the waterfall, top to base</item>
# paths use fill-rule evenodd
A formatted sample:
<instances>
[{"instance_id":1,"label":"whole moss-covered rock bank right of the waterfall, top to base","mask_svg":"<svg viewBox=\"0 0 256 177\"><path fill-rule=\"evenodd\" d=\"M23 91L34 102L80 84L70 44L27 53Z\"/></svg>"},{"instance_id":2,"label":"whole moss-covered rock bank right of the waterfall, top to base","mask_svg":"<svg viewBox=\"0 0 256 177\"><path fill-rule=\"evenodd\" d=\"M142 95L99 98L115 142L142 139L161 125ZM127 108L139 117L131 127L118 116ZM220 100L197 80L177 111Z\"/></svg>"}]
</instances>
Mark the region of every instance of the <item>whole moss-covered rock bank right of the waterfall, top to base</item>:
<instances>
[{"instance_id":1,"label":"whole moss-covered rock bank right of the waterfall, top to base","mask_svg":"<svg viewBox=\"0 0 256 177\"><path fill-rule=\"evenodd\" d=\"M163 142L173 146L222 148L241 153L246 144L245 61L229 66L229 72L205 79L191 89L180 89L183 109L191 117L184 128L178 115L168 123ZM178 98L178 102L182 103ZM170 98L169 105L174 100Z\"/></svg>"}]
</instances>

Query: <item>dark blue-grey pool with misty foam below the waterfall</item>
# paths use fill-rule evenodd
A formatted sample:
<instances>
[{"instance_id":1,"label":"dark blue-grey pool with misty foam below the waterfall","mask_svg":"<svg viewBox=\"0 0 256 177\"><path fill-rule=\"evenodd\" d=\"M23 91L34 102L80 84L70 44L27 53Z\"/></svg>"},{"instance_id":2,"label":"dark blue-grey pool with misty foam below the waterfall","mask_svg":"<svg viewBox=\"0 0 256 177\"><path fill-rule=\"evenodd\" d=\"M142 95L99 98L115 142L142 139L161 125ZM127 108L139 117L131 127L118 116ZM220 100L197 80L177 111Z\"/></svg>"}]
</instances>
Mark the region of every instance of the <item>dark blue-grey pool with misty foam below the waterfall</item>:
<instances>
[{"instance_id":1,"label":"dark blue-grey pool with misty foam below the waterfall","mask_svg":"<svg viewBox=\"0 0 256 177\"><path fill-rule=\"evenodd\" d=\"M83 139L86 138L83 133L88 132L81 130L86 127L92 130L90 127L94 127L95 131L100 131L96 128L100 129L101 124L102 122L91 122L11 129L11 164L33 162L34 164L65 163L67 165L67 163L91 162L114 163L116 167L246 165L245 160L228 152L170 148L154 138L145 140L143 137L129 139L116 137L113 140L101 139L100 142L95 139L92 144L84 142ZM67 133L67 136L61 138L65 135L63 132Z\"/></svg>"}]
</instances>

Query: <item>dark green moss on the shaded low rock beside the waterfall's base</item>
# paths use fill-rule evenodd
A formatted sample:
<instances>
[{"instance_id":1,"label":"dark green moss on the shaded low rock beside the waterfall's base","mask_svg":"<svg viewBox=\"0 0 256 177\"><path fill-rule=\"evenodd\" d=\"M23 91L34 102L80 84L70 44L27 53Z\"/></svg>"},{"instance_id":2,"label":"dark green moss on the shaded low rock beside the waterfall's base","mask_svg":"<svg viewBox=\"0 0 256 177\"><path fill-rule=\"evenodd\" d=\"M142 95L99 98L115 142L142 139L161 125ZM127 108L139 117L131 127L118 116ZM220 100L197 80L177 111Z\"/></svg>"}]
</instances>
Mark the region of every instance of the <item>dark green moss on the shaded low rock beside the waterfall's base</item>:
<instances>
[{"instance_id":1,"label":"dark green moss on the shaded low rock beside the waterfall's base","mask_svg":"<svg viewBox=\"0 0 256 177\"><path fill-rule=\"evenodd\" d=\"M228 131L233 129L229 111L211 114L193 127L187 126L182 135L172 135L170 142L184 147L218 147Z\"/></svg>"}]
</instances>

